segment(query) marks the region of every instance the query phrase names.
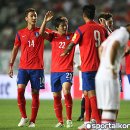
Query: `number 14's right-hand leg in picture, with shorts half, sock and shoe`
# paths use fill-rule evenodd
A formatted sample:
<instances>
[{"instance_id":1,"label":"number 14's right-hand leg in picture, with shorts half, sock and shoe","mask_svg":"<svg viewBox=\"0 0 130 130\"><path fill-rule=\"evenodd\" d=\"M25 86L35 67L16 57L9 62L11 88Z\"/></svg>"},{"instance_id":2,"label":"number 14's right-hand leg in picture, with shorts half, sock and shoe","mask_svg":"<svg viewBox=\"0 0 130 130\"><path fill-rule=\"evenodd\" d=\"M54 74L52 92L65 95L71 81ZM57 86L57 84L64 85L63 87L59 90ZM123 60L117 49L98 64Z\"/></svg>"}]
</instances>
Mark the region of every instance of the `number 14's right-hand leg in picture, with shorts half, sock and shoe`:
<instances>
[{"instance_id":1,"label":"number 14's right-hand leg in picture, with shorts half, sock and shoe","mask_svg":"<svg viewBox=\"0 0 130 130\"><path fill-rule=\"evenodd\" d=\"M35 121L40 105L39 90L44 89L44 71L29 70L30 82L32 87L32 105L29 127L35 127Z\"/></svg>"}]
</instances>

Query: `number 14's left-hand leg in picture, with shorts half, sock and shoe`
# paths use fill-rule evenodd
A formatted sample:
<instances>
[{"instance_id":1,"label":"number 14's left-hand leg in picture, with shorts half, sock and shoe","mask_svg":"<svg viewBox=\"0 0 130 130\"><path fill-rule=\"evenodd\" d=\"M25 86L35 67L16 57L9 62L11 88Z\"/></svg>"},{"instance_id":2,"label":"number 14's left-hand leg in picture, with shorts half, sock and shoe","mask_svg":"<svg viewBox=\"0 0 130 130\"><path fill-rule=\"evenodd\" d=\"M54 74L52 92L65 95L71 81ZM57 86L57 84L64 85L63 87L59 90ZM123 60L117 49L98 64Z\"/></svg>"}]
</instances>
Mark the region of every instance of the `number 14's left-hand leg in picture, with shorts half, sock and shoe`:
<instances>
[{"instance_id":1,"label":"number 14's left-hand leg in picture, with shorts half, sock and shoe","mask_svg":"<svg viewBox=\"0 0 130 130\"><path fill-rule=\"evenodd\" d=\"M22 127L28 121L27 114L26 114L26 100L25 100L25 96L24 96L25 87L29 80L26 70L19 69L17 79L18 79L17 80L17 86L18 86L17 101L18 101L18 107L19 107L19 110L21 113L21 120L20 120L18 126Z\"/></svg>"}]
</instances>

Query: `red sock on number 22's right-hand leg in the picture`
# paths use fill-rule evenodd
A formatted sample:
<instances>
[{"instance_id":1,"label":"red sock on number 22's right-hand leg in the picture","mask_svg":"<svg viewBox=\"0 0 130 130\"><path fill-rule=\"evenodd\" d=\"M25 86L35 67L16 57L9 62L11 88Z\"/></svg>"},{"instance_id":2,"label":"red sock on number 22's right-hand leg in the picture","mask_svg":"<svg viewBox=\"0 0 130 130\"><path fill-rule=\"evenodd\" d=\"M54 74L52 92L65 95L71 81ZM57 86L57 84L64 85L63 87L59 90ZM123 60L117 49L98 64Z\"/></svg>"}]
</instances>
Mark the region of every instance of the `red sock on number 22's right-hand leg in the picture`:
<instances>
[{"instance_id":1,"label":"red sock on number 22's right-hand leg in the picture","mask_svg":"<svg viewBox=\"0 0 130 130\"><path fill-rule=\"evenodd\" d=\"M67 120L72 120L72 97L71 94L64 95L65 97L65 106L66 106L66 116Z\"/></svg>"}]
</instances>

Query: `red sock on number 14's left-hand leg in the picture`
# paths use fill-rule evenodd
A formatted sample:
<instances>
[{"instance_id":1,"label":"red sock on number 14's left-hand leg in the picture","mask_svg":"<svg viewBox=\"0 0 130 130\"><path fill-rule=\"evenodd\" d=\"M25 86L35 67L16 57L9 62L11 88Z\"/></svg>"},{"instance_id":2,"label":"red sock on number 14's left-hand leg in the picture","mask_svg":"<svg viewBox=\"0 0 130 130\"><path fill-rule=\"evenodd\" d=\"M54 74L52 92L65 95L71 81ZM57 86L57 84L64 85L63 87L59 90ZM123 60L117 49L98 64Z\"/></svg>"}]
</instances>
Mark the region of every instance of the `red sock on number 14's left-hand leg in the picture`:
<instances>
[{"instance_id":1,"label":"red sock on number 14's left-hand leg in the picture","mask_svg":"<svg viewBox=\"0 0 130 130\"><path fill-rule=\"evenodd\" d=\"M18 107L19 107L19 110L20 110L20 113L21 113L21 117L27 118L26 108L25 108L26 100L25 100L25 97L24 97L24 92L25 92L25 88L18 88L17 100L18 100Z\"/></svg>"}]
</instances>

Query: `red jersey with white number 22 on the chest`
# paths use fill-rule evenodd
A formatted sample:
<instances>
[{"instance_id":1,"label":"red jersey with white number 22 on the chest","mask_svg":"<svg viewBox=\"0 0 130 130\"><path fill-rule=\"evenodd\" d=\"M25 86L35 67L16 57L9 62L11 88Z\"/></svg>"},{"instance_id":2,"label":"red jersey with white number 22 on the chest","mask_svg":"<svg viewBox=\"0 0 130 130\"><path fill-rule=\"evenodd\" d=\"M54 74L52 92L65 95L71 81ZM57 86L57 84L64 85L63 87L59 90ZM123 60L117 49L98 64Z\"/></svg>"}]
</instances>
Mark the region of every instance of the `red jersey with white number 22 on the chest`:
<instances>
[{"instance_id":1,"label":"red jersey with white number 22 on the chest","mask_svg":"<svg viewBox=\"0 0 130 130\"><path fill-rule=\"evenodd\" d=\"M73 33L59 35L56 32L49 34L48 40L52 45L51 72L72 72L75 47L67 56L60 56L70 43Z\"/></svg>"}]
</instances>

